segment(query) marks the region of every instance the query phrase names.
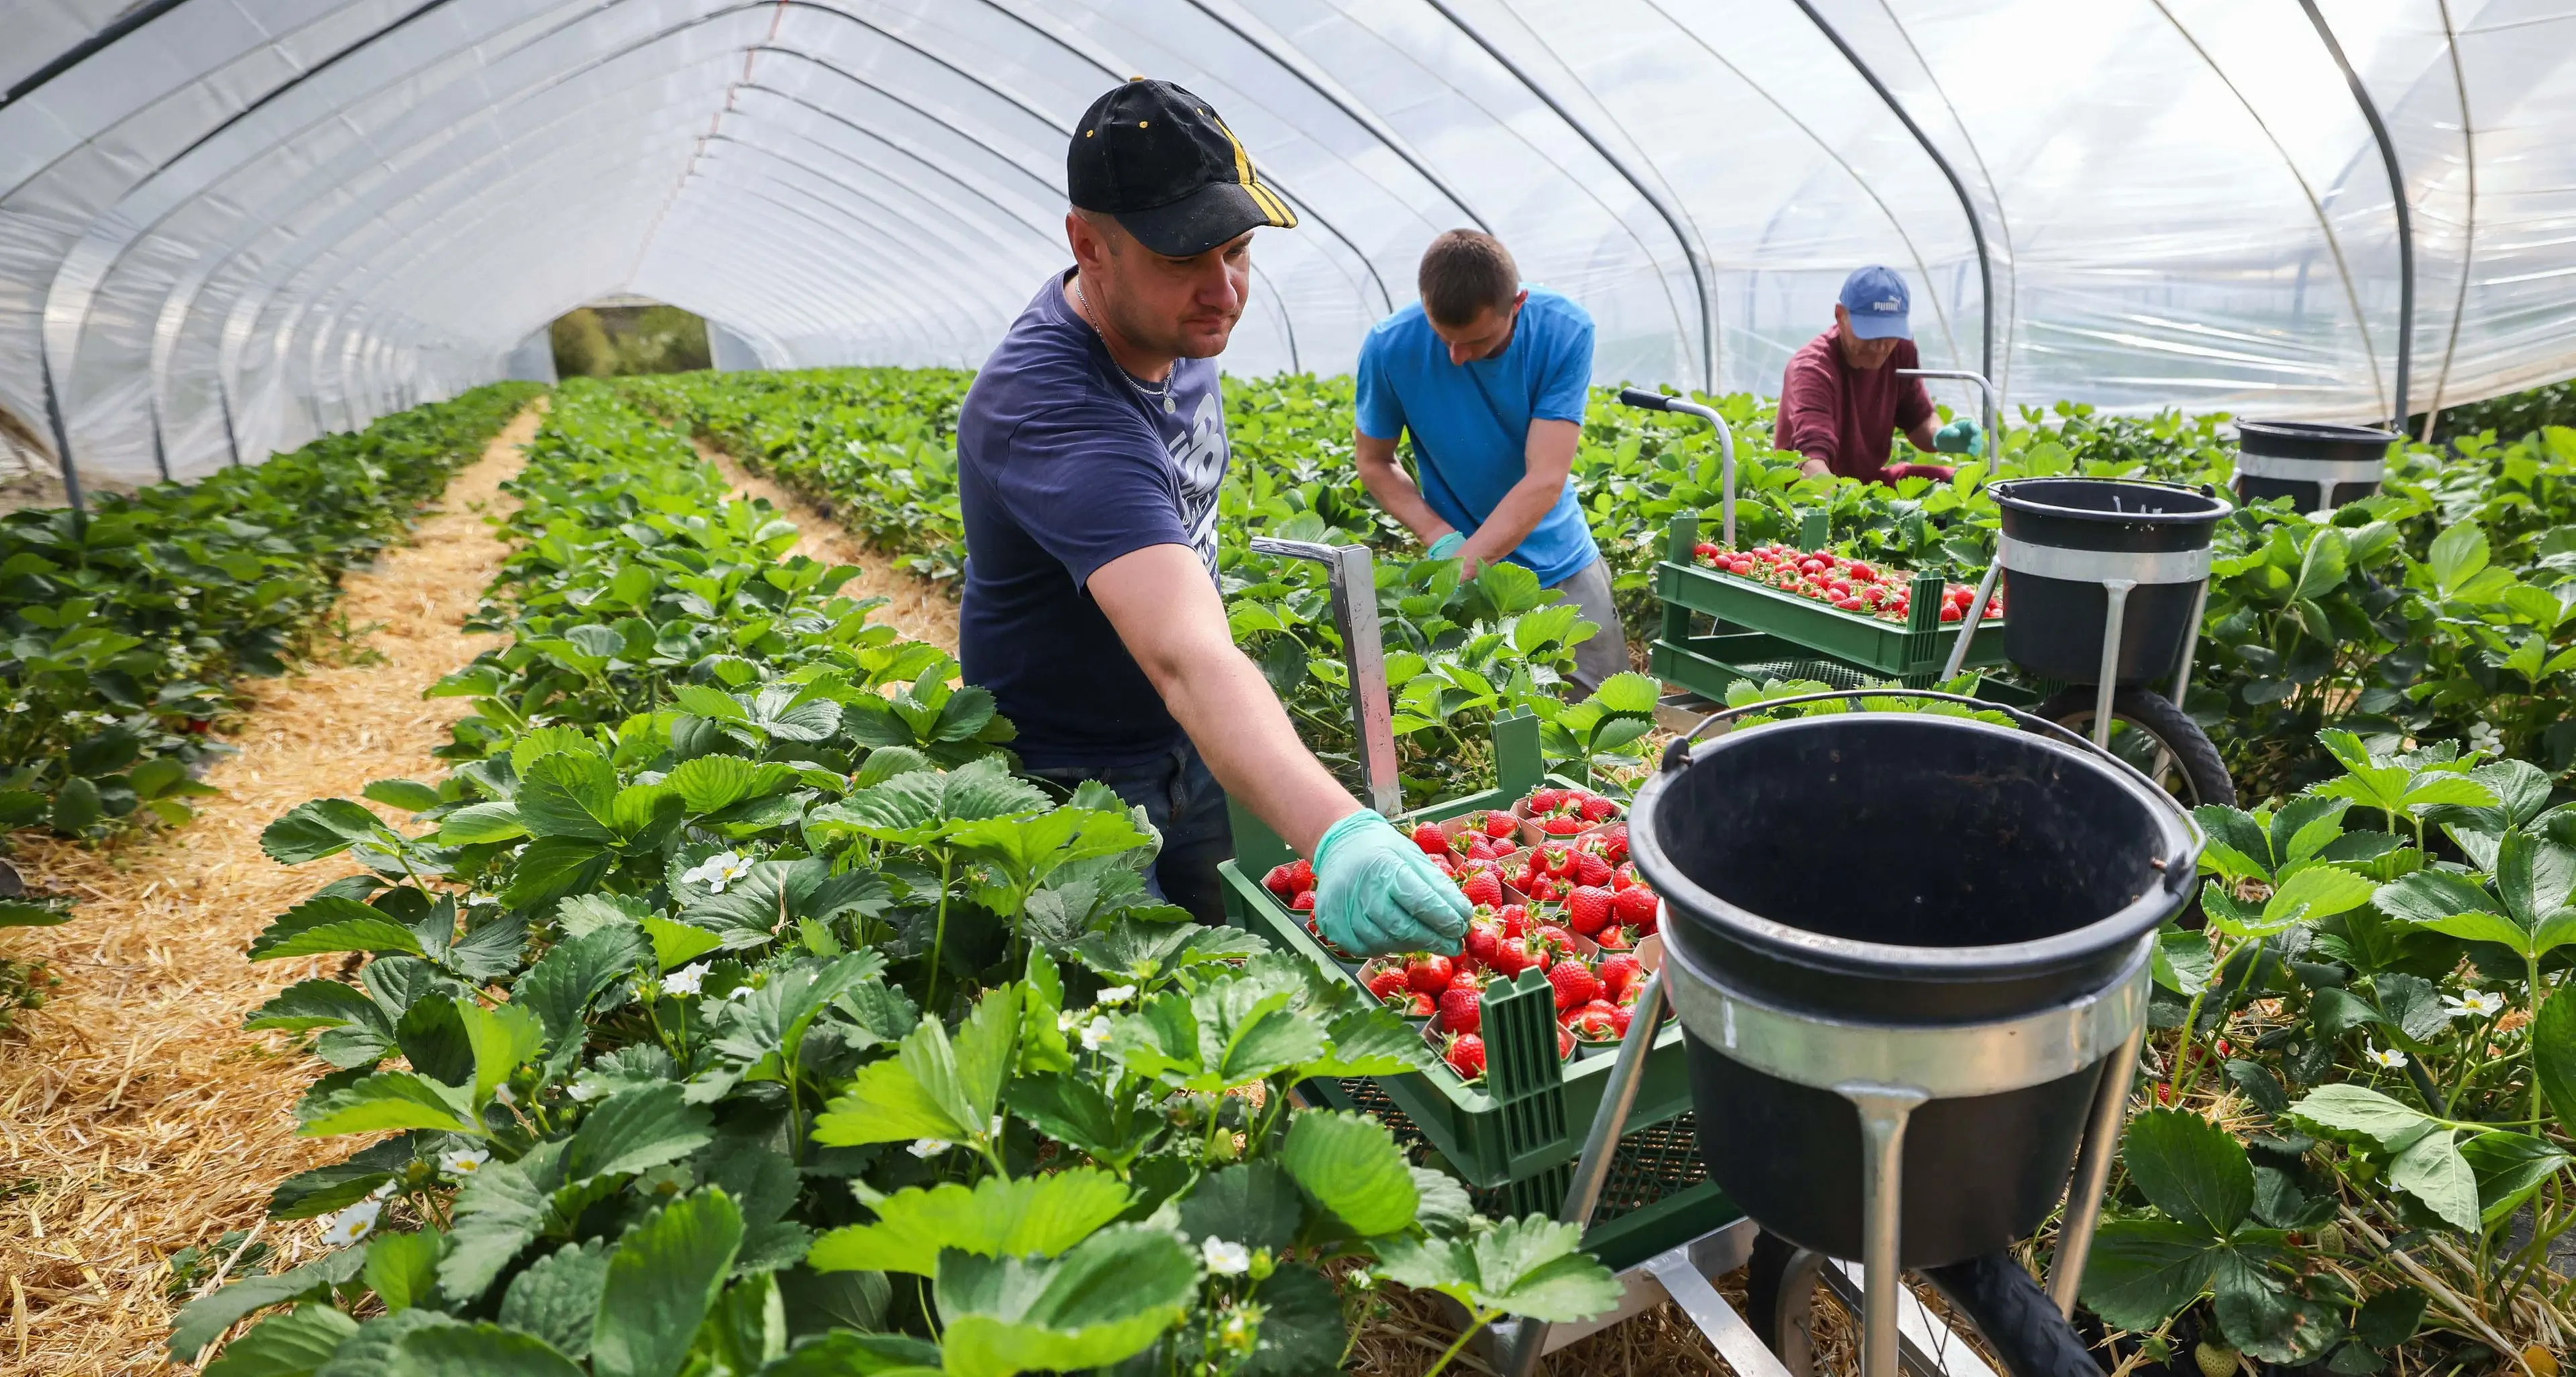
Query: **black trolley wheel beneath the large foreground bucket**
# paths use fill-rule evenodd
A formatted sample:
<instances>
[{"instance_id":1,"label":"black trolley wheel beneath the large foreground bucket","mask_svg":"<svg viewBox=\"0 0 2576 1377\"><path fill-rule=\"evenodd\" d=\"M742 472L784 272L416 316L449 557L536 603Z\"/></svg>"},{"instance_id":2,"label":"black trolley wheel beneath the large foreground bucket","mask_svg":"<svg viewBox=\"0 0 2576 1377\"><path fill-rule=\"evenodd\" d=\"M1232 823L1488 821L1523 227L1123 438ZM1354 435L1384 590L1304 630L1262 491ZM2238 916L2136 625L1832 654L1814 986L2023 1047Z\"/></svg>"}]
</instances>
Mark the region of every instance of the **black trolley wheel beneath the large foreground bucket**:
<instances>
[{"instance_id":1,"label":"black trolley wheel beneath the large foreground bucket","mask_svg":"<svg viewBox=\"0 0 2576 1377\"><path fill-rule=\"evenodd\" d=\"M1950 1266L1924 1269L1942 1297L1958 1308L2012 1377L2102 1377L2048 1292L2012 1261L2012 1253L1986 1253ZM1772 1233L1754 1235L1744 1269L1744 1315L1762 1344L1790 1377L1816 1377L1816 1282L1824 1279L1824 1253L1811 1253Z\"/></svg>"}]
</instances>

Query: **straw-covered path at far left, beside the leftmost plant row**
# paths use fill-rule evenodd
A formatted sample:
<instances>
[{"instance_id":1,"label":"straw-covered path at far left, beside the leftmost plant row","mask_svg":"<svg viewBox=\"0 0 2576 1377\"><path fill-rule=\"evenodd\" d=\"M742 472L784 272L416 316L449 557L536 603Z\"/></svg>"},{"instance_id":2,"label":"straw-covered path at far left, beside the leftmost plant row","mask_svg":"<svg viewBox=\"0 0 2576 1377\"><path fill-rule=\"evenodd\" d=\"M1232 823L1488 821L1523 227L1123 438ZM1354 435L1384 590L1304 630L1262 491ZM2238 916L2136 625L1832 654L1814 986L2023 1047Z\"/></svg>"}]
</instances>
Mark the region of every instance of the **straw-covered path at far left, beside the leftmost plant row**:
<instances>
[{"instance_id":1,"label":"straw-covered path at far left, beside the leftmost plant row","mask_svg":"<svg viewBox=\"0 0 2576 1377\"><path fill-rule=\"evenodd\" d=\"M26 878L80 911L0 947L62 975L26 1035L0 1040L0 1372L160 1369L173 1251L255 1225L283 1253L273 1271L319 1251L319 1223L263 1223L268 1189L350 1143L294 1135L319 1063L245 1035L242 1014L337 960L250 965L242 947L353 867L276 865L260 829L307 798L443 775L430 749L466 700L420 690L495 641L459 625L500 569L484 517L505 510L500 484L536 425L533 409L513 420L410 546L350 574L340 610L361 636L250 682L240 754L206 775L224 795L196 821L103 849L18 849Z\"/></svg>"}]
</instances>

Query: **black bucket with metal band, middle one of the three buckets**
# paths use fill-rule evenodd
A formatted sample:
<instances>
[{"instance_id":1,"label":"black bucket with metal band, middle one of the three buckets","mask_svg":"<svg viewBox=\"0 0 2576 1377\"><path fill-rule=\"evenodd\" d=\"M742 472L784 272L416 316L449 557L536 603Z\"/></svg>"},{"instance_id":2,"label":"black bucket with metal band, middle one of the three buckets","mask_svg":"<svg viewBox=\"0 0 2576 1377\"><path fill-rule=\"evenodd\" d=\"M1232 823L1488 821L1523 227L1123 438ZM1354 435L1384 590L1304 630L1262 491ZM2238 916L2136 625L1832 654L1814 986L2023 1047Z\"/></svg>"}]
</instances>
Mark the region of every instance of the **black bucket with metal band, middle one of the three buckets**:
<instances>
[{"instance_id":1,"label":"black bucket with metal band, middle one of the three buckets","mask_svg":"<svg viewBox=\"0 0 2576 1377\"><path fill-rule=\"evenodd\" d=\"M2130 479L2009 479L1994 484L2004 535L2066 551L2205 551L2228 504L2179 484ZM2200 584L2138 584L2120 620L2120 685L2169 677L2200 631ZM2043 679L2102 682L2110 592L2097 582L2045 579L2004 566L2004 659Z\"/></svg>"}]
</instances>

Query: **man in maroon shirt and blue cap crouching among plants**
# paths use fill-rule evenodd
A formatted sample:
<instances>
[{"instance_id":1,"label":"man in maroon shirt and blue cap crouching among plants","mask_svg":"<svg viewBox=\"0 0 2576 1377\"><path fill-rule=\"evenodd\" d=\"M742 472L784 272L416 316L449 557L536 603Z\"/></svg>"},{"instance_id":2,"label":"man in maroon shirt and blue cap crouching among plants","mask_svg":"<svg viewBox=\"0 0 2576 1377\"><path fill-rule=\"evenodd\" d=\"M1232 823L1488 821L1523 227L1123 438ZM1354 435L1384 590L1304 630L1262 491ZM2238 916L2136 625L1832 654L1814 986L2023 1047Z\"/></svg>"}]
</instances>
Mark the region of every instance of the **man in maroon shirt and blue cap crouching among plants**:
<instances>
[{"instance_id":1,"label":"man in maroon shirt and blue cap crouching among plants","mask_svg":"<svg viewBox=\"0 0 2576 1377\"><path fill-rule=\"evenodd\" d=\"M1976 422L1935 430L1940 417L1922 378L1896 376L1899 368L1919 368L1914 332L1906 327L1909 304L1904 278L1888 268L1862 268L1842 283L1834 329L1790 355L1772 445L1806 456L1801 474L1875 484L1950 479L1945 463L1888 463L1899 430L1924 453L1950 445L1973 450Z\"/></svg>"}]
</instances>

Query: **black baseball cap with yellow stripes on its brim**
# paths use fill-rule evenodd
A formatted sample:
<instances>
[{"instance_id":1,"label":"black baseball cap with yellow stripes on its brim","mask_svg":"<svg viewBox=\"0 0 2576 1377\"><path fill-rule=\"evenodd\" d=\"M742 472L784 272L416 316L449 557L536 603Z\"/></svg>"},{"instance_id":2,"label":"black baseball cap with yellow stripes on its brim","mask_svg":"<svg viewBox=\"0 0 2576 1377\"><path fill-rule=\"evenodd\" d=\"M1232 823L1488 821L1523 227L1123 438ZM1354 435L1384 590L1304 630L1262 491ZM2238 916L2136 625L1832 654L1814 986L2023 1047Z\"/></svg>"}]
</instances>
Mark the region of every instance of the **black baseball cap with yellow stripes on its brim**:
<instances>
[{"instance_id":1,"label":"black baseball cap with yellow stripes on its brim","mask_svg":"<svg viewBox=\"0 0 2576 1377\"><path fill-rule=\"evenodd\" d=\"M1296 211L1252 172L1252 154L1206 100L1133 77L1092 100L1064 149L1074 206L1115 219L1139 245L1193 257Z\"/></svg>"}]
</instances>

